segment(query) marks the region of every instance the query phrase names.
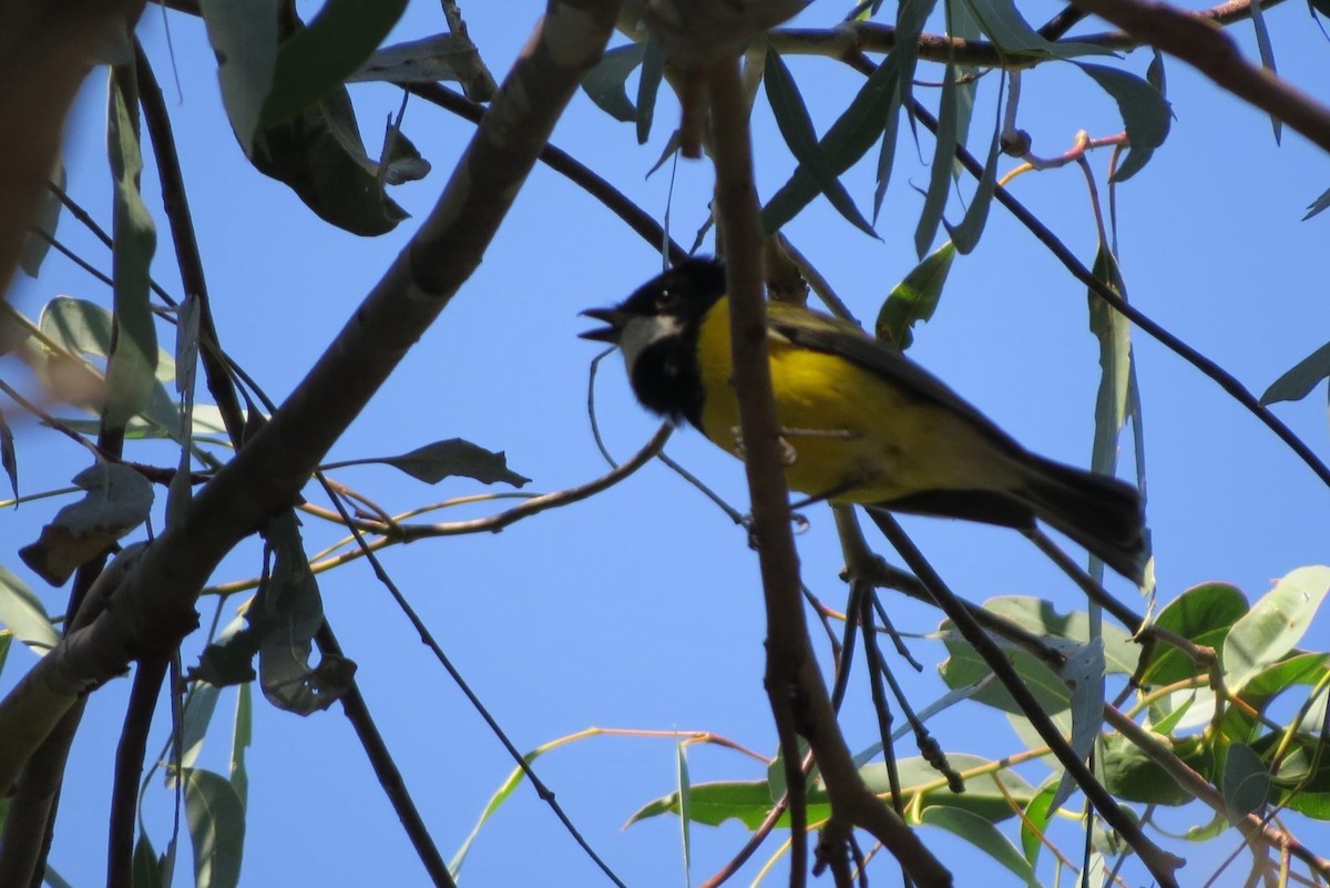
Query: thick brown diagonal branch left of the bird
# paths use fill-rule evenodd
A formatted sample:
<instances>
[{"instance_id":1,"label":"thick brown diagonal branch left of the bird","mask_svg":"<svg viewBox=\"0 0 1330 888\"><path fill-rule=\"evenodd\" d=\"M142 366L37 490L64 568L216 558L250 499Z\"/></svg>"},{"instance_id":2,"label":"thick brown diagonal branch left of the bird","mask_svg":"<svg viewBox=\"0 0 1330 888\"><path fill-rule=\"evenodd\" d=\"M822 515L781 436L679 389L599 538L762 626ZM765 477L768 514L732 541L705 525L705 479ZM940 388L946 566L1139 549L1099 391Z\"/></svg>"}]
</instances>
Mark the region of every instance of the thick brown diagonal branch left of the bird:
<instances>
[{"instance_id":1,"label":"thick brown diagonal branch left of the bird","mask_svg":"<svg viewBox=\"0 0 1330 888\"><path fill-rule=\"evenodd\" d=\"M237 542L290 508L329 447L479 265L555 121L600 57L613 0L553 0L435 210L295 392L194 500L186 520L124 564L116 608L68 634L0 701L8 786L78 695L130 659L169 651ZM112 565L112 570L116 569Z\"/></svg>"}]
</instances>

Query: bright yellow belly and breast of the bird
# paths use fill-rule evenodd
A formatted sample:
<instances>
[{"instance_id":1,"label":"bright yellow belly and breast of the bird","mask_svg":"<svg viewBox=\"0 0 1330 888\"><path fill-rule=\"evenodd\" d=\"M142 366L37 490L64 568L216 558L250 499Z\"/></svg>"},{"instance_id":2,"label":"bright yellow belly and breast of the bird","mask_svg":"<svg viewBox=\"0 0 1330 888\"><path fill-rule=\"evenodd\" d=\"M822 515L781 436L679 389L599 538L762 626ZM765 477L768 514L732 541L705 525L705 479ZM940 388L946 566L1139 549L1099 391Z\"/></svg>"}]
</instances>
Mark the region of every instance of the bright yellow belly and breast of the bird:
<instances>
[{"instance_id":1,"label":"bright yellow belly and breast of the bird","mask_svg":"<svg viewBox=\"0 0 1330 888\"><path fill-rule=\"evenodd\" d=\"M702 324L702 432L742 459L730 364L729 308ZM843 358L767 339L790 488L838 502L880 502L922 491L1007 483L1005 460L974 425ZM996 463L996 464L995 464Z\"/></svg>"}]
</instances>

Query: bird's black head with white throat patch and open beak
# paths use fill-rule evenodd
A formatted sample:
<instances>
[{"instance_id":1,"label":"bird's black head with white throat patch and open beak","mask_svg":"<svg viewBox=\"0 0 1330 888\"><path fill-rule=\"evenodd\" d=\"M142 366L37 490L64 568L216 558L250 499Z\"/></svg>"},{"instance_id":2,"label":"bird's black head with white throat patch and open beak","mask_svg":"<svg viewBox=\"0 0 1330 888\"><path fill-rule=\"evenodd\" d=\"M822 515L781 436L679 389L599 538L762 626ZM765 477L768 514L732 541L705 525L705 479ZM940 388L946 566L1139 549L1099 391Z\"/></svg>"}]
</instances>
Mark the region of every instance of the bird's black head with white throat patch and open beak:
<instances>
[{"instance_id":1,"label":"bird's black head with white throat patch and open beak","mask_svg":"<svg viewBox=\"0 0 1330 888\"><path fill-rule=\"evenodd\" d=\"M716 259L688 259L644 283L617 307L584 311L609 326L581 336L618 346L642 407L697 425L702 416L697 332L724 295L725 266Z\"/></svg>"}]
</instances>

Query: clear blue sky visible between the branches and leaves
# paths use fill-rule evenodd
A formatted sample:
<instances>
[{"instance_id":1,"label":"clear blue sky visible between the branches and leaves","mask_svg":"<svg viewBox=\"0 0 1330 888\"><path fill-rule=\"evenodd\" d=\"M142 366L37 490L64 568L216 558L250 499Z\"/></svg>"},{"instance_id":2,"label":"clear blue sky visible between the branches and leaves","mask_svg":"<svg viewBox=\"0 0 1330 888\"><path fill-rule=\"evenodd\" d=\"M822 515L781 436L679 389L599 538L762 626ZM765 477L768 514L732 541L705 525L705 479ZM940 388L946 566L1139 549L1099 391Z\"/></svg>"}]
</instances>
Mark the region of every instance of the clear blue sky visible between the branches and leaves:
<instances>
[{"instance_id":1,"label":"clear blue sky visible between the branches and leaves","mask_svg":"<svg viewBox=\"0 0 1330 888\"><path fill-rule=\"evenodd\" d=\"M496 76L515 57L537 12L532 3L464 9ZM1028 15L1043 19L1052 12L1048 5ZM838 15L838 8L817 4L801 24L830 25ZM1267 17L1281 74L1311 92L1322 89L1330 47L1307 21L1306 9L1283 4ZM392 40L442 27L436 7L411 4ZM1229 32L1254 56L1250 24ZM141 35L166 90L221 336L231 356L281 399L402 249L414 222L363 239L314 219L283 186L245 162L221 109L202 25L176 15L168 15L164 25L160 12L149 11ZM1148 61L1137 52L1121 64L1140 74ZM791 58L790 66L819 132L825 130L859 76L823 58ZM926 69L922 77L936 73ZM1168 82L1177 114L1169 141L1119 190L1120 258L1129 295L1260 393L1327 339L1330 311L1318 257L1330 222L1299 219L1330 185L1330 165L1287 130L1277 146L1262 114L1176 60L1169 60ZM983 84L972 137L980 153L991 133L994 92L992 82ZM356 86L352 93L367 141L375 144L380 121L396 109L399 97L378 86ZM109 223L104 94L105 77L97 72L74 109L65 161L69 191ZM920 96L926 104L936 101L928 90ZM553 141L657 218L672 207L674 237L688 245L706 218L709 165L681 162L677 171L665 166L646 177L676 113L662 94L650 141L638 146L630 125L614 122L579 94ZM1056 62L1025 74L1020 126L1045 156L1065 150L1079 129L1092 136L1121 129L1112 101L1088 77ZM412 102L404 128L434 164L423 182L394 191L419 219L472 126ZM754 129L758 189L770 195L794 162L761 97ZM910 186L926 187L928 171L918 158L931 153L930 138L922 136L916 150L903 134L876 226L880 241L854 230L821 199L786 229L863 319L874 316L914 265L922 195ZM1107 153L1092 157L1101 189L1107 162ZM1005 161L1001 169L1011 165ZM156 209L150 162L144 181ZM861 207L871 206L871 165L851 169L845 182ZM966 182L964 194L971 190ZM1024 175L1013 191L1087 263L1093 258L1093 217L1075 167ZM948 218L959 218L962 209L954 198ZM70 218L61 221L59 234L109 267L109 258ZM161 241L154 275L178 294L168 238ZM600 475L605 465L585 415L595 347L576 338L587 328L577 312L618 300L658 267L650 245L576 186L537 167L477 274L330 459L398 453L460 436L505 451L509 465L533 479L528 489L553 491ZM57 257L48 259L40 280L21 282L13 298L35 315L57 294L108 298L100 284ZM1289 570L1325 562L1330 492L1214 383L1144 336L1134 344L1161 600L1209 580L1233 582L1254 598ZM911 354L1032 449L1068 463L1088 461L1097 351L1087 327L1084 288L999 209L979 249L958 259L942 306L916 331ZM12 366L5 364L9 372ZM654 423L632 403L617 359L605 363L597 397L606 444L626 457ZM1301 403L1274 409L1326 459L1323 397L1318 388ZM82 468L84 457L72 444L32 425L16 428L25 493L64 487ZM696 432L677 433L668 449L729 502L745 508L738 463ZM164 447L146 445L134 459L170 464L174 457ZM387 468L346 469L336 477L392 512L487 491L456 479L426 488ZM13 541L5 566L28 577L13 553L35 537L59 502L39 501L4 516L0 526ZM466 514L501 505L473 506ZM811 528L798 538L805 581L838 606L845 586L837 578L842 564L830 513L814 509L809 517ZM1019 594L1051 598L1063 609L1079 606L1069 584L1016 534L926 518L906 524L952 588L971 600ZM305 525L311 550L339 536L313 518ZM241 546L215 580L254 576L258 564L258 549ZM741 530L660 464L591 501L500 534L399 546L384 554L384 564L521 750L588 726L708 730L765 754L775 748L761 687L763 615L755 558ZM32 582L49 610L64 608L64 590ZM325 574L321 586L329 619L359 663L370 707L440 849L451 856L512 762L363 562ZM1112 589L1134 594L1120 582ZM936 627L934 611L886 594L902 631ZM239 604L233 600L225 618ZM202 602L205 621L211 609L211 601ZM1321 618L1305 646L1327 643L1330 627ZM911 698L922 707L943 690L935 665L944 653L930 639L914 639L911 649L924 673L914 677L899 663L896 671L908 674ZM186 663L194 655L197 649L188 649ZM27 651L13 651L0 687L9 687L28 662ZM125 681L98 691L74 746L52 864L78 885L101 880L106 795L126 694ZM233 699L231 693L223 695L205 766L225 767ZM851 682L843 723L853 748L876 739L862 673ZM165 738L165 731L162 723L154 736ZM978 706L939 718L934 732L947 750L996 758L1023 748L1000 718ZM907 740L902 755L911 754ZM694 782L763 776L758 764L733 752L693 747L689 758ZM301 719L259 703L249 760L242 884L424 884L339 711ZM642 738L584 740L539 762L543 779L579 828L632 885L684 884L676 820L620 830L636 808L674 788L674 770L673 743ZM1027 771L1036 782L1045 774L1039 767ZM1204 820L1196 814L1190 822ZM161 848L170 831L170 807L160 786L149 792L148 823ZM1294 820L1294 831L1314 840L1317 826L1299 830ZM694 877L710 875L743 837L733 824L694 828ZM983 865L944 833L930 830L926 840L948 860L964 861L958 875ZM1226 836L1192 847L1185 881L1208 876L1236 841ZM1068 840L1067 848L1075 847L1075 839ZM775 841L769 843L767 853L774 849ZM758 859L765 856L759 852ZM876 879L894 879L891 869L879 861ZM747 883L754 873L750 864L739 879ZM1005 876L995 872L992 879L1001 883ZM180 877L186 879L188 869ZM1238 877L1228 873L1217 884L1236 884L1224 879ZM463 872L463 883L473 885L580 885L598 884L597 879L527 787L485 828ZM960 877L959 884L967 880Z\"/></svg>"}]
</instances>

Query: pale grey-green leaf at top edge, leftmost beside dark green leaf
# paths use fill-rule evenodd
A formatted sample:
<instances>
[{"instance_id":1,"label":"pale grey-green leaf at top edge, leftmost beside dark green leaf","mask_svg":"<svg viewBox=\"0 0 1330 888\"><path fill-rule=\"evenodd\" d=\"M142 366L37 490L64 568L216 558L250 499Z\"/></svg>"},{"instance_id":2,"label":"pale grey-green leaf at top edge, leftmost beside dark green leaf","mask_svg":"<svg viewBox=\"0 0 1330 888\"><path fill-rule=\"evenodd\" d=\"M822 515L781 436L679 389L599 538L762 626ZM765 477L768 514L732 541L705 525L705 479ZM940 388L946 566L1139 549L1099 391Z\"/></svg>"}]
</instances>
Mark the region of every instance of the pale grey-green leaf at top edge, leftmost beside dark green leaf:
<instances>
[{"instance_id":1,"label":"pale grey-green leaf at top edge, leftmost beside dark green leaf","mask_svg":"<svg viewBox=\"0 0 1330 888\"><path fill-rule=\"evenodd\" d=\"M217 56L222 105L246 156L259 132L277 70L279 0L201 0L207 41Z\"/></svg>"}]
</instances>

